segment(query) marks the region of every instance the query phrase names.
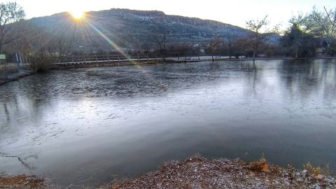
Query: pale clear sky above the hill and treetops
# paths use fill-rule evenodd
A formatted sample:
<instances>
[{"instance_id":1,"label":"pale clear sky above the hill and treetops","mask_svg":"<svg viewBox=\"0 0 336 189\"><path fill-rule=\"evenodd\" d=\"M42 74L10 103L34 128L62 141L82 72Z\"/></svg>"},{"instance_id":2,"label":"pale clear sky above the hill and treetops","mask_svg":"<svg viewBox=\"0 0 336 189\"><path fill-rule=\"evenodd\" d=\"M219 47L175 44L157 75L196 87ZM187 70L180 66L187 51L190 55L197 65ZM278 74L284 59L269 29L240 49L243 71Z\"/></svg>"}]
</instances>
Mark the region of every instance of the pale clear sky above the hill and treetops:
<instances>
[{"instance_id":1,"label":"pale clear sky above the hill and treetops","mask_svg":"<svg viewBox=\"0 0 336 189\"><path fill-rule=\"evenodd\" d=\"M8 0L0 0L1 3ZM61 12L130 8L134 10L162 10L168 15L183 15L245 27L246 20L262 19L268 15L275 24L286 27L292 15L307 13L313 6L336 8L336 0L17 0L27 18Z\"/></svg>"}]
</instances>

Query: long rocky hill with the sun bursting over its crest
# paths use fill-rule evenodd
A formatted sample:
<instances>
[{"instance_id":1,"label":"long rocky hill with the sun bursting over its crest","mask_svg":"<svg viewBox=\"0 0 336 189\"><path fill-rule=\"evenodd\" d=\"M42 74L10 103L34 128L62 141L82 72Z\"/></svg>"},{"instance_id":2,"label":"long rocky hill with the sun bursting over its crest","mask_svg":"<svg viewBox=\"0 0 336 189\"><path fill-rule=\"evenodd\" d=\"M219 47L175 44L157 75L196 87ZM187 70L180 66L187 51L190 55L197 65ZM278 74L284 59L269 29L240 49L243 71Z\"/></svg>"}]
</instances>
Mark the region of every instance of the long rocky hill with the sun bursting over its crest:
<instances>
[{"instance_id":1,"label":"long rocky hill with the sun bursting over its crest","mask_svg":"<svg viewBox=\"0 0 336 189\"><path fill-rule=\"evenodd\" d=\"M69 13L32 18L34 27L45 30L52 38L75 43L78 48L111 49L110 43L120 48L153 45L167 37L167 43L207 43L214 36L241 37L249 31L213 20L166 15L161 11L111 9L85 13L75 20ZM107 40L106 38L109 38ZM97 49L96 49L97 50Z\"/></svg>"}]
</instances>

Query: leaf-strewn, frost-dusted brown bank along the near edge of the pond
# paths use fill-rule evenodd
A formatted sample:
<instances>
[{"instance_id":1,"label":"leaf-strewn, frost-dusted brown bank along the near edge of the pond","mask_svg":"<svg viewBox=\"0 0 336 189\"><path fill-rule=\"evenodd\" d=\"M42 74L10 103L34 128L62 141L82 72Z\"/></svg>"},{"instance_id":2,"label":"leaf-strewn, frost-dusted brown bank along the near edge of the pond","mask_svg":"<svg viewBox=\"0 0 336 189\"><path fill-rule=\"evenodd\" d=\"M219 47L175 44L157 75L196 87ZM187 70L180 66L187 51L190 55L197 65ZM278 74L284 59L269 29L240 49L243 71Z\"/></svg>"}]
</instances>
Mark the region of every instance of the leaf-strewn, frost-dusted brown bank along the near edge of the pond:
<instances>
[{"instance_id":1,"label":"leaf-strewn, frost-dusted brown bank along the near edge of the pond","mask_svg":"<svg viewBox=\"0 0 336 189\"><path fill-rule=\"evenodd\" d=\"M65 188L80 188L71 184ZM90 188L90 186L87 186ZM0 175L0 188L62 188L36 176ZM304 165L294 169L270 165L264 158L246 162L224 158L207 160L200 155L183 161L165 162L156 171L106 183L98 189L122 188L336 188L328 169Z\"/></svg>"}]
</instances>

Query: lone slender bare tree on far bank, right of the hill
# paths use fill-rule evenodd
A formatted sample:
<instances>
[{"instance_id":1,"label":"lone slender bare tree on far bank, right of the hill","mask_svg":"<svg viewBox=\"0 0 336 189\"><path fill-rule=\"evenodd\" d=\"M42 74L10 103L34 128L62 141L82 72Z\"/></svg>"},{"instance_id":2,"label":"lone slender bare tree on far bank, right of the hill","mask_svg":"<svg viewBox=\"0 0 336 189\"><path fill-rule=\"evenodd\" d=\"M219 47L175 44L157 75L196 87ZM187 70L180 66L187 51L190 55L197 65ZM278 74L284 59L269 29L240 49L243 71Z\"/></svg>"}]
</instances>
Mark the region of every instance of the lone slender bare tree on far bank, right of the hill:
<instances>
[{"instance_id":1,"label":"lone slender bare tree on far bank, right of the hill","mask_svg":"<svg viewBox=\"0 0 336 189\"><path fill-rule=\"evenodd\" d=\"M246 29L252 31L249 34L249 39L253 48L253 60L257 56L260 44L264 43L265 39L271 34L279 33L279 25L275 25L272 28L269 27L267 15L262 20L248 20L246 22Z\"/></svg>"}]
</instances>

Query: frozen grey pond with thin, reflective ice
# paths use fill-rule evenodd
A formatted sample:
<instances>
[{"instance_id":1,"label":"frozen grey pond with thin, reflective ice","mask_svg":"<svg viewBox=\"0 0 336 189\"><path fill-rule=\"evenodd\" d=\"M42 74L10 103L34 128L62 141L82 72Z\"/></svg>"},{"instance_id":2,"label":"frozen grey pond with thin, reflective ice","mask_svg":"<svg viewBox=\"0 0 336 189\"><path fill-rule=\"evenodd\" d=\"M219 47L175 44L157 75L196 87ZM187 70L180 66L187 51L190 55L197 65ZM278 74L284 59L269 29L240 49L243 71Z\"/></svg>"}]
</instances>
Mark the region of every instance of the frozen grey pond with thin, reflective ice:
<instances>
[{"instance_id":1,"label":"frozen grey pond with thin, reflective ice","mask_svg":"<svg viewBox=\"0 0 336 189\"><path fill-rule=\"evenodd\" d=\"M62 186L99 186L195 153L336 169L335 136L330 60L69 69L0 86L0 174Z\"/></svg>"}]
</instances>

